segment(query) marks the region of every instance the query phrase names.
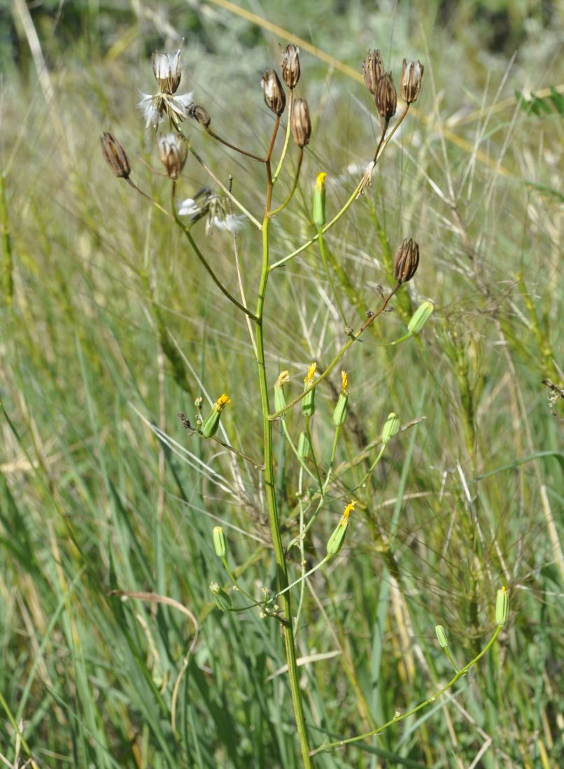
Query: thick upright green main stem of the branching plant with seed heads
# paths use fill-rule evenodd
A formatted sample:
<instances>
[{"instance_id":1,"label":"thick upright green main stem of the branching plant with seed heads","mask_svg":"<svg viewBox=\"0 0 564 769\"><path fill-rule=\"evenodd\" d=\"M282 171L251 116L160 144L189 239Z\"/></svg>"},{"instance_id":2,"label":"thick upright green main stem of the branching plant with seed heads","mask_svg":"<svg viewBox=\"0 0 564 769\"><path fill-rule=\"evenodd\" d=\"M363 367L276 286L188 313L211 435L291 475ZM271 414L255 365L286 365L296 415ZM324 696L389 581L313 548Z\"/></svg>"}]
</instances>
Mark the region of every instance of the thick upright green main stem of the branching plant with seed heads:
<instances>
[{"instance_id":1,"label":"thick upright green main stem of the branching plant with seed heads","mask_svg":"<svg viewBox=\"0 0 564 769\"><path fill-rule=\"evenodd\" d=\"M265 218L262 222L262 275L259 286L259 300L256 306L256 347L257 355L256 361L259 368L259 385L261 394L261 407L262 407L262 429L263 440L265 446L265 494L266 494L266 506L269 514L269 525L272 535L272 545L274 548L274 557L276 561L276 569L278 572L278 591L284 591L288 587L288 570L286 568L286 561L284 555L284 547L282 545L282 537L280 535L280 524L278 517L278 506L276 503L276 489L274 478L274 462L272 454L272 421L269 420L270 406L269 406L269 388L266 380L266 367L265 367L265 345L264 345L264 305L265 305L265 291L266 284L269 280L269 210L272 201L272 170L270 167L270 159L266 163L266 171L268 178L268 187L266 192L266 207ZM282 635L284 636L284 646L286 663L288 664L288 676L290 681L290 691L292 692L292 704L294 707L295 725L298 730L299 744L302 751L303 765L305 769L313 769L312 757L309 755L309 739L307 726L305 724L305 714L303 710L302 692L299 688L299 675L298 665L295 661L295 646L294 646L294 629L292 622L292 604L290 601L289 591L280 596L280 602L282 604L282 614L287 620L287 623L281 625Z\"/></svg>"}]
</instances>

